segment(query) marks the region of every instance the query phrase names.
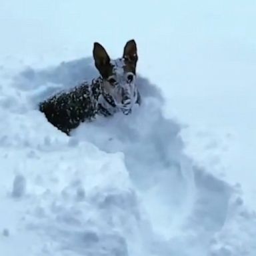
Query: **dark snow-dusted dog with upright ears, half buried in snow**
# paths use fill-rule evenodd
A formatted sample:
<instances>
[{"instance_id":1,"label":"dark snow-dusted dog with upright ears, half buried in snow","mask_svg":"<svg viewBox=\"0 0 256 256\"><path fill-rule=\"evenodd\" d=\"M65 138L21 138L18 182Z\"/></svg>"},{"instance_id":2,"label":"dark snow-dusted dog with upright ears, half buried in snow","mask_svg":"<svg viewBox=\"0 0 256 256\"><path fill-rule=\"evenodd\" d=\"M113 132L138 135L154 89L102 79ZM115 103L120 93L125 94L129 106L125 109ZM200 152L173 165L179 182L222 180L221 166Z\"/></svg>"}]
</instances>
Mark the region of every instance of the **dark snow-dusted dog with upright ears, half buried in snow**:
<instances>
[{"instance_id":1,"label":"dark snow-dusted dog with upright ears, half buried in snow","mask_svg":"<svg viewBox=\"0 0 256 256\"><path fill-rule=\"evenodd\" d=\"M136 85L138 56L134 39L125 44L123 57L115 60L95 42L93 59L99 77L39 103L39 110L47 120L67 135L80 123L92 121L97 115L109 117L119 111L129 115L135 104L141 105Z\"/></svg>"}]
</instances>

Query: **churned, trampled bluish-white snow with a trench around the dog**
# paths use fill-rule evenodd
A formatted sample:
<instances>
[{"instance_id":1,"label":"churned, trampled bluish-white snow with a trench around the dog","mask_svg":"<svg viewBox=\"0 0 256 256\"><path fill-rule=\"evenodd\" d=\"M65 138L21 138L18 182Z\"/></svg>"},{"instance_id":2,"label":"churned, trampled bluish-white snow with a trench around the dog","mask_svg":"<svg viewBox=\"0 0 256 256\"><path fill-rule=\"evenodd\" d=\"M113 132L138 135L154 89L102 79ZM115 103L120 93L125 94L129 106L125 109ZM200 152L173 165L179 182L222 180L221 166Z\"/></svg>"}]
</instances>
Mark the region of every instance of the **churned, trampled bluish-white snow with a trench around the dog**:
<instances>
[{"instance_id":1,"label":"churned, trampled bluish-white snow with a trench around the dog","mask_svg":"<svg viewBox=\"0 0 256 256\"><path fill-rule=\"evenodd\" d=\"M132 115L81 124L71 137L37 111L95 75L91 59L1 74L1 254L255 255L256 217L239 187L185 155L182 127L147 79Z\"/></svg>"}]
</instances>

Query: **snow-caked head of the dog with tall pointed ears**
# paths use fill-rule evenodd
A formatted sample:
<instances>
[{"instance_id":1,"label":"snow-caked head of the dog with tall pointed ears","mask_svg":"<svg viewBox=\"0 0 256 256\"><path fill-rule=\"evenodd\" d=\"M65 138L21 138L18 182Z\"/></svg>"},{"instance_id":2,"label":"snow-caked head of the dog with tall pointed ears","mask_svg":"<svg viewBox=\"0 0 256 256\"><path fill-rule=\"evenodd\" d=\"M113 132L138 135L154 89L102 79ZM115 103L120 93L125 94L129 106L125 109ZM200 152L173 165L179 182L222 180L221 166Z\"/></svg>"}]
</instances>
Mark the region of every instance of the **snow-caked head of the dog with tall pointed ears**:
<instances>
[{"instance_id":1,"label":"snow-caked head of the dog with tall pointed ears","mask_svg":"<svg viewBox=\"0 0 256 256\"><path fill-rule=\"evenodd\" d=\"M137 47L134 40L126 43L123 57L111 60L107 51L99 43L94 43L93 57L101 77L103 90L111 95L115 105L127 115L138 101L136 82Z\"/></svg>"}]
</instances>

